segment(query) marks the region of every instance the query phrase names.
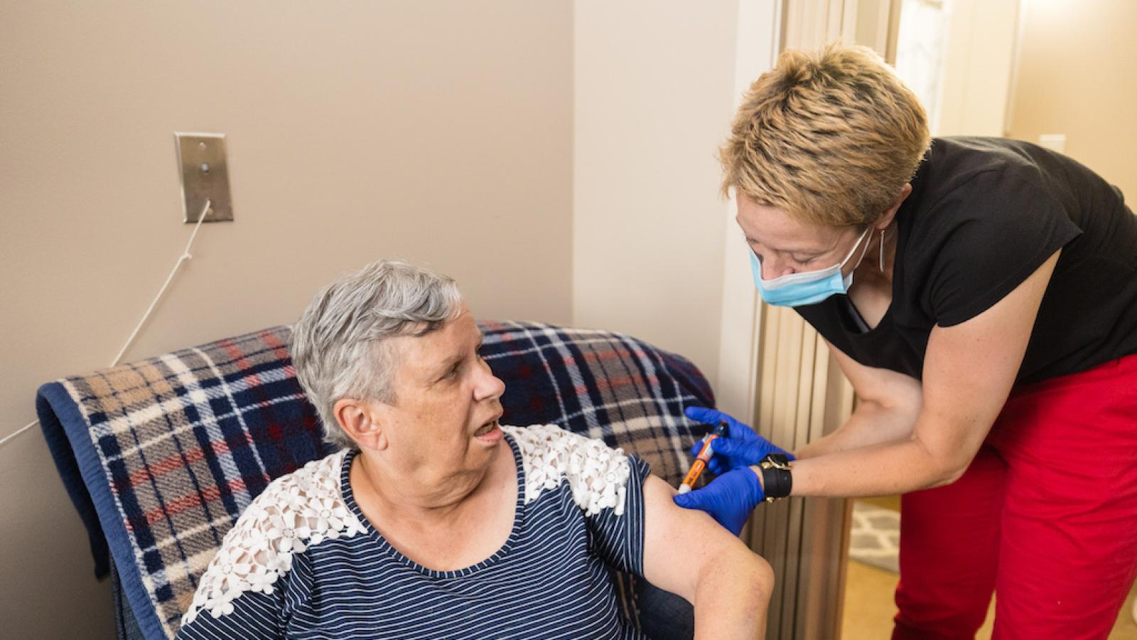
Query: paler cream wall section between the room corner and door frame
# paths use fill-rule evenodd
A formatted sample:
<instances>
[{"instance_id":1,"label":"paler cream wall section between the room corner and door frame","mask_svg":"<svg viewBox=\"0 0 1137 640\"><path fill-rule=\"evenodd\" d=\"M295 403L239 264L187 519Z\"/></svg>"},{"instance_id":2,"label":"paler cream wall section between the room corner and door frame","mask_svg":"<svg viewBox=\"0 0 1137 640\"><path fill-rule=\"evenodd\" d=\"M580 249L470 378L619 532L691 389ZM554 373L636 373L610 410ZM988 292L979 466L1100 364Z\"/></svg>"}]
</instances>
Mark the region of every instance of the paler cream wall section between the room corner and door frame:
<instances>
[{"instance_id":1,"label":"paler cream wall section between the room corner and door frame","mask_svg":"<svg viewBox=\"0 0 1137 640\"><path fill-rule=\"evenodd\" d=\"M728 220L715 150L739 3L574 5L574 322L682 353L714 383Z\"/></svg>"}]
</instances>

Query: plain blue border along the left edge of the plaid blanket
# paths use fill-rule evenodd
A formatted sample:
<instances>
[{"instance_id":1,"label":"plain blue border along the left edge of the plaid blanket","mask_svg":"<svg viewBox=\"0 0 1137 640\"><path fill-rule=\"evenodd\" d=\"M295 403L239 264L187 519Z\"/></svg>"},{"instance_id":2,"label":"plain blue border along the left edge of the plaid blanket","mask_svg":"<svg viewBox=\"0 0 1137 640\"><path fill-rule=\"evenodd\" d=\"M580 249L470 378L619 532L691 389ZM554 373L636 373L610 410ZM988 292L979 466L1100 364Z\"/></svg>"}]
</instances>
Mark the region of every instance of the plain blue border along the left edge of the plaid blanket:
<instances>
[{"instance_id":1,"label":"plain blue border along the left edge of the plaid blanket","mask_svg":"<svg viewBox=\"0 0 1137 640\"><path fill-rule=\"evenodd\" d=\"M126 601L142 633L147 640L166 640L155 606L142 586L142 574L134 561L126 524L115 504L102 460L91 440L90 425L60 383L40 387L35 396L35 412L67 494L86 526L96 577L109 574L109 558L113 557Z\"/></svg>"}]
</instances>

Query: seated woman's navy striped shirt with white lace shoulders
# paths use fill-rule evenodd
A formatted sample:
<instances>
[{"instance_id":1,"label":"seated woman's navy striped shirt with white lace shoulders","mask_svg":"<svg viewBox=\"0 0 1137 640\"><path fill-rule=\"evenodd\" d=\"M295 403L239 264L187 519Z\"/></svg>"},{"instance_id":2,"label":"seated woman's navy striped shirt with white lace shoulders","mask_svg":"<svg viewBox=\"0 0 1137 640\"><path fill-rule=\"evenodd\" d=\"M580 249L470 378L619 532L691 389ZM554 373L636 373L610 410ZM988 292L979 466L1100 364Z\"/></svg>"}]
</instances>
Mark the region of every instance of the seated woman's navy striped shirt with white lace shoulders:
<instances>
[{"instance_id":1,"label":"seated woman's navy striped shirt with white lace shoulders","mask_svg":"<svg viewBox=\"0 0 1137 640\"><path fill-rule=\"evenodd\" d=\"M642 574L648 466L553 425L503 426L508 540L458 571L402 556L348 482L354 452L274 481L226 534L179 638L633 638L611 568Z\"/></svg>"}]
</instances>

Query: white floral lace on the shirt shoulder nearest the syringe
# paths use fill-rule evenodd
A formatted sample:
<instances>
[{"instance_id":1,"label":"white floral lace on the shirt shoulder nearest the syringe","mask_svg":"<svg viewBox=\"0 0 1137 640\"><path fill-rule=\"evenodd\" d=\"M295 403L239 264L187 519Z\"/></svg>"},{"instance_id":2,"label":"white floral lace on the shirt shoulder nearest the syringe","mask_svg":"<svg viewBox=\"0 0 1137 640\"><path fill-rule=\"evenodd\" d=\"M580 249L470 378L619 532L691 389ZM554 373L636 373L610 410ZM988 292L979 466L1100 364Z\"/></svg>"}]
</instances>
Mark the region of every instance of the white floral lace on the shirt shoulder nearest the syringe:
<instances>
[{"instance_id":1,"label":"white floral lace on the shirt shoulder nearest the syringe","mask_svg":"<svg viewBox=\"0 0 1137 640\"><path fill-rule=\"evenodd\" d=\"M566 478L573 501L584 515L595 516L604 509L613 509L617 516L624 514L631 468L622 449L609 449L599 440L566 432L556 425L524 428L503 425L501 429L521 449L526 504Z\"/></svg>"}]
</instances>

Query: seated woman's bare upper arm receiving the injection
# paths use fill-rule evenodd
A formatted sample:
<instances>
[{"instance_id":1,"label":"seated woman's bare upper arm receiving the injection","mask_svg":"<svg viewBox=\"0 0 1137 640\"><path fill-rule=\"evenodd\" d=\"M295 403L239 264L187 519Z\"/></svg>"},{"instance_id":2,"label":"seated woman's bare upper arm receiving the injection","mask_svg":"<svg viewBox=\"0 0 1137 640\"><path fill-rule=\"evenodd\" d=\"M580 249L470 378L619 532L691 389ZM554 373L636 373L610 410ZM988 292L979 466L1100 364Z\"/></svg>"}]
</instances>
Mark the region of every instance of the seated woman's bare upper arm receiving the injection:
<instances>
[{"instance_id":1,"label":"seated woman's bare upper arm receiving the injection","mask_svg":"<svg viewBox=\"0 0 1137 640\"><path fill-rule=\"evenodd\" d=\"M675 490L656 476L644 483L644 577L695 602L700 571L730 555L739 563L764 563L707 514L672 501Z\"/></svg>"}]
</instances>

